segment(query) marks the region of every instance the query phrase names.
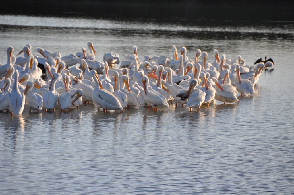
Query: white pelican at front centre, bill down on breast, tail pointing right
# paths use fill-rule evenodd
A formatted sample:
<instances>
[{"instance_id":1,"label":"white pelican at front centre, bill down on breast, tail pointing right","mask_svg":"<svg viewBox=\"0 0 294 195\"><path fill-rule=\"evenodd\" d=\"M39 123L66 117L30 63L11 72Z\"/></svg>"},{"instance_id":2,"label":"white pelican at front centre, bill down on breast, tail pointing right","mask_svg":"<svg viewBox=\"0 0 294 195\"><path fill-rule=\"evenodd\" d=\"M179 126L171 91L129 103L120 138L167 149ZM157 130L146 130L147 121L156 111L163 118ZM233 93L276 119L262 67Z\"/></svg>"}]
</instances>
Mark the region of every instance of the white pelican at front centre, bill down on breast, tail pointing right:
<instances>
[{"instance_id":1,"label":"white pelican at front centre, bill down on breast, tail pointing right","mask_svg":"<svg viewBox=\"0 0 294 195\"><path fill-rule=\"evenodd\" d=\"M143 99L148 105L151 105L153 109L158 107L169 107L168 102L166 98L163 97L163 95L160 95L159 93L153 91L149 91L149 79L147 76L142 77L142 83L145 92L145 94L143 93Z\"/></svg>"}]
</instances>

